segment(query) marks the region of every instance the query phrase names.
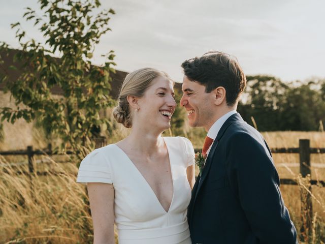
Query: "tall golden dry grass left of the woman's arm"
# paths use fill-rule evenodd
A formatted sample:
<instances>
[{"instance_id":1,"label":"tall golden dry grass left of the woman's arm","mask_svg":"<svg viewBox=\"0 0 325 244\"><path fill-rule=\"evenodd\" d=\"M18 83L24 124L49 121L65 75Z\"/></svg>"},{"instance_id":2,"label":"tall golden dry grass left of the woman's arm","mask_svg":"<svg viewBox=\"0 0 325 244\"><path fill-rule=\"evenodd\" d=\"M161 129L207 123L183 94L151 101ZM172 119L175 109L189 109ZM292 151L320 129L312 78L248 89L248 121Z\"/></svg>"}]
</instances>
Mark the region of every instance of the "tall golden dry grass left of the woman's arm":
<instances>
[{"instance_id":1,"label":"tall golden dry grass left of the woman's arm","mask_svg":"<svg viewBox=\"0 0 325 244\"><path fill-rule=\"evenodd\" d=\"M51 161L48 175L38 176L17 175L26 167L3 157L0 163L1 243L91 243L88 197L75 164Z\"/></svg>"}]
</instances>

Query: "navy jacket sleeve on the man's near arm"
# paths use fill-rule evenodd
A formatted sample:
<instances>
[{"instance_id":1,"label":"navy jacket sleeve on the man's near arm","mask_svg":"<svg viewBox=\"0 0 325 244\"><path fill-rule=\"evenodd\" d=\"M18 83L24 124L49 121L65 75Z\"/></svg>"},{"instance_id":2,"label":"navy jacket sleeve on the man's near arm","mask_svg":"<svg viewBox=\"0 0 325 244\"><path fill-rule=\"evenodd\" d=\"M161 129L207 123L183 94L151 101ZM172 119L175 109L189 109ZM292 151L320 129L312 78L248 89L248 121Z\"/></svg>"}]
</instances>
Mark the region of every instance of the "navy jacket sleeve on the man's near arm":
<instances>
[{"instance_id":1,"label":"navy jacket sleeve on the man's near arm","mask_svg":"<svg viewBox=\"0 0 325 244\"><path fill-rule=\"evenodd\" d=\"M278 173L262 137L237 132L226 148L230 187L260 243L298 243L280 193Z\"/></svg>"}]
</instances>

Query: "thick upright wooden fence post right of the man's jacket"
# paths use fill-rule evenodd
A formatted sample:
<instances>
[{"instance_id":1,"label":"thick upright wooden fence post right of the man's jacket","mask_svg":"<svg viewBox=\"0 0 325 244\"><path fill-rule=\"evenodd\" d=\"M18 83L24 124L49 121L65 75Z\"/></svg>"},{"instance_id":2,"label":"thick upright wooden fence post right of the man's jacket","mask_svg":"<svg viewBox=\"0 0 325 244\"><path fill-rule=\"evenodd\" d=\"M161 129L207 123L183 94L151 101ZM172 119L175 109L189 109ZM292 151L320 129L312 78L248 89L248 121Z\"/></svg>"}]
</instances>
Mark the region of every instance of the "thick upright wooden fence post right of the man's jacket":
<instances>
[{"instance_id":1,"label":"thick upright wooden fence post right of the man's jacket","mask_svg":"<svg viewBox=\"0 0 325 244\"><path fill-rule=\"evenodd\" d=\"M310 170L310 140L299 140L299 156L300 156L300 173L303 177L307 175L311 176ZM305 184L305 183L303 183ZM309 191L309 192L308 192ZM312 219L313 208L311 198L311 185L308 186L308 191L304 188L300 188L301 192L301 220L302 226L300 229L301 239L307 241L312 234ZM307 238L307 239L306 239Z\"/></svg>"}]
</instances>

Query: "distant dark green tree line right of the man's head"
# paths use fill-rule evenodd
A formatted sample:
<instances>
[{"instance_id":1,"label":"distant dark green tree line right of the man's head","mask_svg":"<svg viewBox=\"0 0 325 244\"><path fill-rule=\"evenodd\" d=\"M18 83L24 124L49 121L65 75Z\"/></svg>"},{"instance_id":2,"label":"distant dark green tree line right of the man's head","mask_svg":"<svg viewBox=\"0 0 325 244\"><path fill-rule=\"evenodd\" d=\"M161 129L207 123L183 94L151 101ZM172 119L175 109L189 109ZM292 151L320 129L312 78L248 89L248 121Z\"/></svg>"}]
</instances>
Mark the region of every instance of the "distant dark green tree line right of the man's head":
<instances>
[{"instance_id":1,"label":"distant dark green tree line right of the man's head","mask_svg":"<svg viewBox=\"0 0 325 244\"><path fill-rule=\"evenodd\" d=\"M284 83L272 76L247 76L237 111L259 131L323 131L325 79Z\"/></svg>"}]
</instances>

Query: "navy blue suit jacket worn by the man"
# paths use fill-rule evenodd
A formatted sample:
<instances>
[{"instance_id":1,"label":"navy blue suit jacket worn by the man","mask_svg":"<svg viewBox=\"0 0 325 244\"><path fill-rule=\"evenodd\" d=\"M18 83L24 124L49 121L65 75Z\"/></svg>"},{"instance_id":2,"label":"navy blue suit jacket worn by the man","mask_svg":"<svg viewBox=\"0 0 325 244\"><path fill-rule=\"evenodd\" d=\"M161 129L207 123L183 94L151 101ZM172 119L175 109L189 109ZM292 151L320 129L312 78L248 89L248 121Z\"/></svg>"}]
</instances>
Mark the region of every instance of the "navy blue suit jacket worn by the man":
<instances>
[{"instance_id":1,"label":"navy blue suit jacket worn by the man","mask_svg":"<svg viewBox=\"0 0 325 244\"><path fill-rule=\"evenodd\" d=\"M187 217L193 243L296 244L271 151L233 114L215 138L192 190Z\"/></svg>"}]
</instances>

